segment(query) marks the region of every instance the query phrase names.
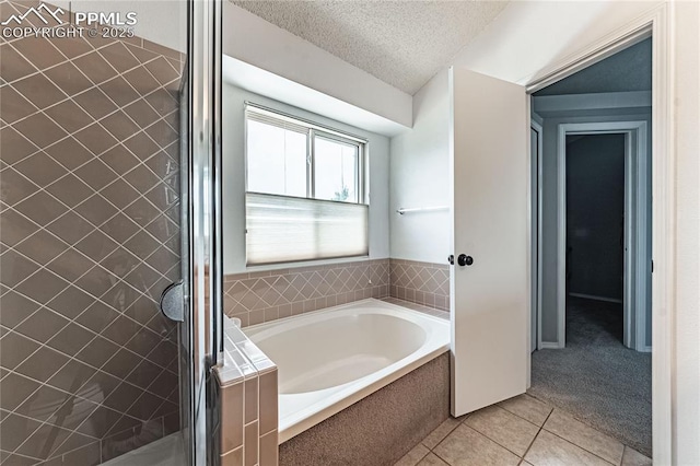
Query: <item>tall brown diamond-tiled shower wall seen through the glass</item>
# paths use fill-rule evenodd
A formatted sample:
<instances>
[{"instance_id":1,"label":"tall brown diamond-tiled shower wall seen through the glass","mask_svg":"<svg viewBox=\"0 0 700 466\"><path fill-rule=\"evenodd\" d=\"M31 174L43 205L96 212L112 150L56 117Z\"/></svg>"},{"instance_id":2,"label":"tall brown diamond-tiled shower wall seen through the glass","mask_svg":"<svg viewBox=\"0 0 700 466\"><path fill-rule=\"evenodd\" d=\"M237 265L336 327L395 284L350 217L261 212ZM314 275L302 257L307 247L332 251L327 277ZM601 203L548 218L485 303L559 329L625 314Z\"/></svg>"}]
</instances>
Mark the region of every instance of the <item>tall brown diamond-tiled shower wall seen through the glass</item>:
<instances>
[{"instance_id":1,"label":"tall brown diamond-tiled shower wall seen through the glass","mask_svg":"<svg viewBox=\"0 0 700 466\"><path fill-rule=\"evenodd\" d=\"M0 42L3 464L94 465L179 429L156 300L179 278L182 61L140 38Z\"/></svg>"}]
</instances>

